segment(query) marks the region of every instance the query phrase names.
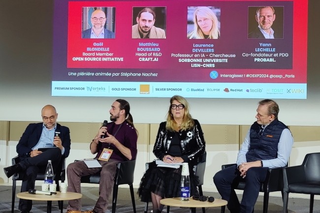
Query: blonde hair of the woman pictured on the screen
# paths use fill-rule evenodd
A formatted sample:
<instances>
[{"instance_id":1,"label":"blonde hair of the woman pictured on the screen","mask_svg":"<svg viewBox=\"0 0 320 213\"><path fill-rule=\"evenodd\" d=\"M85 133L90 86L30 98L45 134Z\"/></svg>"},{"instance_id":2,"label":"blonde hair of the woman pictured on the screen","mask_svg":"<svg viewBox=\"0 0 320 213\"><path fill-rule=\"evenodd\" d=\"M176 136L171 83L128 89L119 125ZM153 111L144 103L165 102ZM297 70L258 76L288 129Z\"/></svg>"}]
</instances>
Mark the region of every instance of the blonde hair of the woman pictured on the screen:
<instances>
[{"instance_id":1,"label":"blonde hair of the woman pictured on the screen","mask_svg":"<svg viewBox=\"0 0 320 213\"><path fill-rule=\"evenodd\" d=\"M194 29L188 34L188 38L204 38L203 32L198 25L197 16L210 19L212 21L212 28L209 33L209 38L217 39L220 37L220 30L218 28L218 18L216 14L209 7L197 7L193 12Z\"/></svg>"}]
</instances>

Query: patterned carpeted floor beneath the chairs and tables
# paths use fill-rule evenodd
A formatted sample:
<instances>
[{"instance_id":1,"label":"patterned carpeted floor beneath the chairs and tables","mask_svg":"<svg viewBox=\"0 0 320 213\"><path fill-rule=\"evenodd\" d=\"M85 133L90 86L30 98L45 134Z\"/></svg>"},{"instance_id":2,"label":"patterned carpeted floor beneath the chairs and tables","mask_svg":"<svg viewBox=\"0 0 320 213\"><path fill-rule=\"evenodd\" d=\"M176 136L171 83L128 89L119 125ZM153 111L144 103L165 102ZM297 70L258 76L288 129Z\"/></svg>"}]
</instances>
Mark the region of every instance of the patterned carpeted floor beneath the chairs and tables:
<instances>
[{"instance_id":1,"label":"patterned carpeted floor beneath the chairs and tables","mask_svg":"<svg viewBox=\"0 0 320 213\"><path fill-rule=\"evenodd\" d=\"M0 185L0 212L11 213L11 190L12 186ZM136 190L136 189L135 189ZM20 191L20 187L17 186L17 192ZM82 187L82 206L84 210L92 210L98 198L97 187ZM220 198L218 193L204 192L206 196L213 196ZM241 196L239 196L241 199ZM20 213L18 210L18 201L16 198L14 213ZM135 205L137 213L144 212L144 203L138 200L135 194ZM64 213L66 212L67 201L64 202ZM45 201L34 201L32 206L32 213L45 213L47 204ZM259 196L255 206L255 213L262 213L263 197ZM288 205L289 213L309 213L309 199L290 198ZM152 210L152 204L149 203L148 213ZM116 213L132 213L132 203L128 188L119 188L118 201ZM188 208L170 207L170 213L189 213ZM196 210L197 213L202 213L201 209ZM52 213L60 213L57 202L52 202ZM106 213L111 213L111 201ZM163 213L166 213L166 207L163 209ZM221 213L220 207L206 208L206 213ZM229 213L228 210L225 213ZM282 199L281 197L270 197L268 213L282 213ZM315 200L314 213L320 213L320 200Z\"/></svg>"}]
</instances>

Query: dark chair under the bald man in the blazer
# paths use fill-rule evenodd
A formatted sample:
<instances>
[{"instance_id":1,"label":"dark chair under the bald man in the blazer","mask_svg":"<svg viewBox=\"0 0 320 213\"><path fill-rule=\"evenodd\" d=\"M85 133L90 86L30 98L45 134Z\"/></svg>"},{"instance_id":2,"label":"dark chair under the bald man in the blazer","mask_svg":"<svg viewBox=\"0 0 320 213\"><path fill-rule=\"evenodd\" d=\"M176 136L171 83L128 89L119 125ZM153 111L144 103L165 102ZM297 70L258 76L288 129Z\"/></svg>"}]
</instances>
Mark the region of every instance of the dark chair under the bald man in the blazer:
<instances>
[{"instance_id":1,"label":"dark chair under the bald man in the blazer","mask_svg":"<svg viewBox=\"0 0 320 213\"><path fill-rule=\"evenodd\" d=\"M12 158L12 165L17 164L20 162L19 156L15 156ZM65 158L61 159L60 165L57 167L56 174L54 174L54 180L57 184L57 191L60 191L60 186L59 186L59 181L61 183L64 183L65 181ZM38 173L36 176L36 181L44 181L44 172L43 173ZM15 197L16 197L16 182L17 181L22 181L23 180L23 173L15 173L12 176L12 202L11 202L11 213L14 213L14 202L15 202ZM64 201L58 201L59 209L61 210L61 213L63 213L63 207L64 207Z\"/></svg>"}]
</instances>

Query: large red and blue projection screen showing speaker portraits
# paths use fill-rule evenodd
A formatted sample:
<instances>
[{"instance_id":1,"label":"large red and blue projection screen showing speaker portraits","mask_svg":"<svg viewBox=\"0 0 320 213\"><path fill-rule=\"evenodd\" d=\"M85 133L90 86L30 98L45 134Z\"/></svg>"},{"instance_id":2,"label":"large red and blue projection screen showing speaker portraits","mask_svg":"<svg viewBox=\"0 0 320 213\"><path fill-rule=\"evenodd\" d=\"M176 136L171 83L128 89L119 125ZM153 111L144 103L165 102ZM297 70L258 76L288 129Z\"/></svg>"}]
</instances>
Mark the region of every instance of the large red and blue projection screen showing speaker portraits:
<instances>
[{"instance_id":1,"label":"large red and blue projection screen showing speaker portraits","mask_svg":"<svg viewBox=\"0 0 320 213\"><path fill-rule=\"evenodd\" d=\"M307 0L55 0L53 96L307 98Z\"/></svg>"}]
</instances>

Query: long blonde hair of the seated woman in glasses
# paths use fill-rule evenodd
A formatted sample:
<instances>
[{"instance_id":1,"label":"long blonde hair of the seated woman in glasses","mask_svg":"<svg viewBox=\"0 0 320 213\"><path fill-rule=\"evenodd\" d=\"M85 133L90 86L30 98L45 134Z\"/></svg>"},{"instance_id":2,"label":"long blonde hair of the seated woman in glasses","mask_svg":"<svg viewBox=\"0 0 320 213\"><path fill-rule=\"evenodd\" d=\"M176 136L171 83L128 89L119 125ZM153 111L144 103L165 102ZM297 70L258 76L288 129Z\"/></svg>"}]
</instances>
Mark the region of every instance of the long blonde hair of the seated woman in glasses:
<instances>
[{"instance_id":1,"label":"long blonde hair of the seated woman in glasses","mask_svg":"<svg viewBox=\"0 0 320 213\"><path fill-rule=\"evenodd\" d=\"M183 116L183 121L181 123L181 129L182 130L191 129L194 126L194 121L189 113L189 103L186 100L186 98L180 95L174 95L170 98L170 106L167 113L167 122L166 122L165 128L167 130L174 131L174 125L176 122L174 121L174 118L171 114L171 104L174 100L178 101L179 103L185 106L185 114Z\"/></svg>"}]
</instances>

